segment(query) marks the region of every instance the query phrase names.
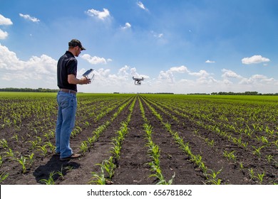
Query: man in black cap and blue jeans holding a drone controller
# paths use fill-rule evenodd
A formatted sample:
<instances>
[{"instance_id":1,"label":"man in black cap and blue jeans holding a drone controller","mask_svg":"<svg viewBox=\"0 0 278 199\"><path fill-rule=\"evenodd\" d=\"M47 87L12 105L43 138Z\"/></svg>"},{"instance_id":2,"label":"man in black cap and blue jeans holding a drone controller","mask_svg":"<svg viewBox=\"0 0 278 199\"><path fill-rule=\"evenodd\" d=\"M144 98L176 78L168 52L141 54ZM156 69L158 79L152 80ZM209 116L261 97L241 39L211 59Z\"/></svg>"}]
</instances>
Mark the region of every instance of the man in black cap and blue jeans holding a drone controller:
<instances>
[{"instance_id":1,"label":"man in black cap and blue jeans holding a drone controller","mask_svg":"<svg viewBox=\"0 0 278 199\"><path fill-rule=\"evenodd\" d=\"M71 131L76 120L76 85L86 85L91 82L86 77L76 78L77 60L75 57L78 57L81 50L86 50L81 42L77 39L71 40L68 43L68 50L57 64L57 82L60 90L57 95L56 154L60 155L61 161L81 156L81 154L73 153L70 147Z\"/></svg>"}]
</instances>

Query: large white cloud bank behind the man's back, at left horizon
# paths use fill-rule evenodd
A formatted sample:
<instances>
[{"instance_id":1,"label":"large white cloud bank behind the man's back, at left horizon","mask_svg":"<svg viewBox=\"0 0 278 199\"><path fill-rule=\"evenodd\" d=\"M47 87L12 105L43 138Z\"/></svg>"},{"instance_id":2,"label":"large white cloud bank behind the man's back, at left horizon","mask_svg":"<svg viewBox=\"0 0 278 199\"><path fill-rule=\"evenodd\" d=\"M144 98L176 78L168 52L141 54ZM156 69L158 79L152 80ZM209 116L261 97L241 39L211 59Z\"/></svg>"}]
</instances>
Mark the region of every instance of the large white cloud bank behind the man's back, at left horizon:
<instances>
[{"instance_id":1,"label":"large white cloud bank behind the man's back, at left horizon","mask_svg":"<svg viewBox=\"0 0 278 199\"><path fill-rule=\"evenodd\" d=\"M48 87L56 85L57 61L48 55L32 56L23 61L6 46L0 45L1 87Z\"/></svg>"}]
</instances>

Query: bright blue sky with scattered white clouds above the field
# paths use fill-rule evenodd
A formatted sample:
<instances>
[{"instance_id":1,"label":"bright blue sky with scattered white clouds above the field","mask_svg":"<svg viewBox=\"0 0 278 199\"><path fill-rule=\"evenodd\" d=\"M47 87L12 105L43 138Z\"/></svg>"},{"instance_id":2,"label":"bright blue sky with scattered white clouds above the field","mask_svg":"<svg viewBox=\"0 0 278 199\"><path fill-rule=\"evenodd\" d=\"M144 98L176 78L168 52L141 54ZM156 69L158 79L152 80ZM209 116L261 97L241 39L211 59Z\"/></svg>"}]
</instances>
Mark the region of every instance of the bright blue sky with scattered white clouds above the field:
<instances>
[{"instance_id":1,"label":"bright blue sky with scattered white clouds above the field","mask_svg":"<svg viewBox=\"0 0 278 199\"><path fill-rule=\"evenodd\" d=\"M81 92L278 92L275 0L1 0L0 87L56 89L68 41ZM144 77L135 86L132 77Z\"/></svg>"}]
</instances>

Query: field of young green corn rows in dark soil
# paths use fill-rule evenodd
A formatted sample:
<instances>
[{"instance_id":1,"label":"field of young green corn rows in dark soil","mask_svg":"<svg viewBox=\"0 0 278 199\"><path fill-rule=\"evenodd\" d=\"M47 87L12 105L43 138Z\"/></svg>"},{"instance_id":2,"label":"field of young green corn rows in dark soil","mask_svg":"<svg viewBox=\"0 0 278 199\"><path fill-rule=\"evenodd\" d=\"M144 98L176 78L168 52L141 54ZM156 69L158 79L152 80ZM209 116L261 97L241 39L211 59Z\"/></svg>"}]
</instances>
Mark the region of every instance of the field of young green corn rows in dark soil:
<instances>
[{"instance_id":1,"label":"field of young green corn rows in dark soil","mask_svg":"<svg viewBox=\"0 0 278 199\"><path fill-rule=\"evenodd\" d=\"M0 184L278 183L278 97L78 93L55 154L55 93L0 92Z\"/></svg>"}]
</instances>

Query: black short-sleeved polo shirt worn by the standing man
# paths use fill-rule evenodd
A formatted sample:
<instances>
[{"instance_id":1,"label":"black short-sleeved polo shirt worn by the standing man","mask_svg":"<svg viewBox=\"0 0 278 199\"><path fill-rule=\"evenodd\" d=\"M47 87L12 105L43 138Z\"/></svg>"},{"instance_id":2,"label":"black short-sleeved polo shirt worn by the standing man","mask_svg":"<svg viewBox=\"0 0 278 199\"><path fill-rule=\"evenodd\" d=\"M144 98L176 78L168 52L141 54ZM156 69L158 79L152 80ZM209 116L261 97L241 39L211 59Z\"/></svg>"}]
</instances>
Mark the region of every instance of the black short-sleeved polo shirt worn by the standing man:
<instances>
[{"instance_id":1,"label":"black short-sleeved polo shirt worn by the standing man","mask_svg":"<svg viewBox=\"0 0 278 199\"><path fill-rule=\"evenodd\" d=\"M75 90L77 92L76 85L68 83L68 75L74 75L76 77L77 73L77 60L73 53L66 51L66 53L61 56L57 64L57 82L58 87Z\"/></svg>"}]
</instances>

